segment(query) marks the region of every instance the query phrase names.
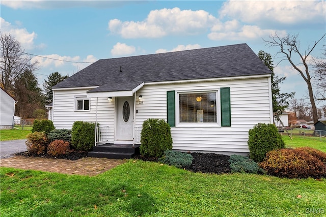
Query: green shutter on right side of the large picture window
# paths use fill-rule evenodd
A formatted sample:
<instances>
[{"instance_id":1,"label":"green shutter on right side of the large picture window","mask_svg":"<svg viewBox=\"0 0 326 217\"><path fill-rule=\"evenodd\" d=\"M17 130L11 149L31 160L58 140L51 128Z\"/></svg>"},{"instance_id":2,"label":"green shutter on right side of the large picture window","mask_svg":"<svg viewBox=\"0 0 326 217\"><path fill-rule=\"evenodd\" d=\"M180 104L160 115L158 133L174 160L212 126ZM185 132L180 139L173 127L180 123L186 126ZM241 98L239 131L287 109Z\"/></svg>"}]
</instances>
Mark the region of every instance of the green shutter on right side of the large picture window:
<instances>
[{"instance_id":1,"label":"green shutter on right side of the large picture window","mask_svg":"<svg viewBox=\"0 0 326 217\"><path fill-rule=\"evenodd\" d=\"M231 127L230 87L221 87L221 124Z\"/></svg>"}]
</instances>

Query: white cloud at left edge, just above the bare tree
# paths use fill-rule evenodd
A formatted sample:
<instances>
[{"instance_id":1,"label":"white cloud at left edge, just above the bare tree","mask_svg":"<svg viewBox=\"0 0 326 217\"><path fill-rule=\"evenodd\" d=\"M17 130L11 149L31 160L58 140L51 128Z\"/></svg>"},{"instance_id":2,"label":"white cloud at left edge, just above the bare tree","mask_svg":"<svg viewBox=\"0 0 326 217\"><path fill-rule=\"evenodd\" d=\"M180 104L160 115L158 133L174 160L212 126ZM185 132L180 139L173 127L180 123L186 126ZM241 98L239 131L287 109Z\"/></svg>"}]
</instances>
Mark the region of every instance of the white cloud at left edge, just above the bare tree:
<instances>
[{"instance_id":1,"label":"white cloud at left edge, just above the bare tree","mask_svg":"<svg viewBox=\"0 0 326 217\"><path fill-rule=\"evenodd\" d=\"M44 47L44 44L34 45L34 40L36 39L36 33L29 33L25 28L17 28L13 26L10 22L7 22L5 19L0 17L1 21L1 32L9 33L20 43L23 49L33 49L36 47Z\"/></svg>"}]
</instances>

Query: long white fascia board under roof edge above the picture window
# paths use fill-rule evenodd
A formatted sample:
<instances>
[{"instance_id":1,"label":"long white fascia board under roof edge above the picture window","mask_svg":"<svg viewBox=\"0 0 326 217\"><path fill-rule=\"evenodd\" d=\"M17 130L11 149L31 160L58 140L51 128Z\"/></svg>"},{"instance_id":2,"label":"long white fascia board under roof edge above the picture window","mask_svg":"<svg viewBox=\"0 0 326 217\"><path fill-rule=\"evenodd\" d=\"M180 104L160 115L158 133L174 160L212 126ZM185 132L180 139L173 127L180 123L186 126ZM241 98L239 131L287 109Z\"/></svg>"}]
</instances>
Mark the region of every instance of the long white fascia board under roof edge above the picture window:
<instances>
[{"instance_id":1,"label":"long white fascia board under roof edge above the picture window","mask_svg":"<svg viewBox=\"0 0 326 217\"><path fill-rule=\"evenodd\" d=\"M174 84L174 83L194 83L194 82L207 82L207 81L227 81L227 80L243 80L253 78L269 78L271 74L267 75L250 75L250 76L235 76L235 77L223 77L223 78L206 78L206 79L192 79L192 80L177 80L177 81L157 81L146 82L146 85L156 84Z\"/></svg>"}]
</instances>

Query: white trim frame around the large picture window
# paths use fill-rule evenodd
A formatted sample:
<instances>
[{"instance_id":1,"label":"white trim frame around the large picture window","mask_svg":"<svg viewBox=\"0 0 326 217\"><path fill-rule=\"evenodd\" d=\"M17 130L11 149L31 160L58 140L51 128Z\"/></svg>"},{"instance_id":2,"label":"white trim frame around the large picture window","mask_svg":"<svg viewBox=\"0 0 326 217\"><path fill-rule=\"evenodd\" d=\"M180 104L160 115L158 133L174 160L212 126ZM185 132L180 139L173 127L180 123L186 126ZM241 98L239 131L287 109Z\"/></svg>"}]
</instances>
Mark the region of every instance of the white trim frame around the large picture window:
<instances>
[{"instance_id":1,"label":"white trim frame around the large picture window","mask_svg":"<svg viewBox=\"0 0 326 217\"><path fill-rule=\"evenodd\" d=\"M216 122L180 122L180 94L199 94L206 92L215 92L216 95ZM175 96L175 127L221 127L221 98L220 89L201 89L201 90L178 90Z\"/></svg>"}]
</instances>

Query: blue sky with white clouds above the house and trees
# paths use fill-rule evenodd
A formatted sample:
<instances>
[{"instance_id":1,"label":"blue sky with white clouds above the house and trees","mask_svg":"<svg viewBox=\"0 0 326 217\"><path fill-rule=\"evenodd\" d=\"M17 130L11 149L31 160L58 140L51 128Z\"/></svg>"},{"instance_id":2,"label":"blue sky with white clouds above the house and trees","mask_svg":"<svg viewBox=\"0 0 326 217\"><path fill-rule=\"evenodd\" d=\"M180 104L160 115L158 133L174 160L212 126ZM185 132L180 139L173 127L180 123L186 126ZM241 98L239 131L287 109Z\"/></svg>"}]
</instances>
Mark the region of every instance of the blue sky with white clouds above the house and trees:
<instances>
[{"instance_id":1,"label":"blue sky with white clouds above the house and trees","mask_svg":"<svg viewBox=\"0 0 326 217\"><path fill-rule=\"evenodd\" d=\"M16 37L25 52L38 55L33 59L39 61L35 73L41 87L52 72L72 75L103 58L238 43L274 57L278 50L263 41L272 34L299 34L305 50L326 33L325 1L11 0L1 1L0 16L1 32ZM321 56L325 42L313 56ZM273 59L275 66L281 60ZM287 61L274 71L286 76L283 92L304 98L306 84Z\"/></svg>"}]
</instances>

